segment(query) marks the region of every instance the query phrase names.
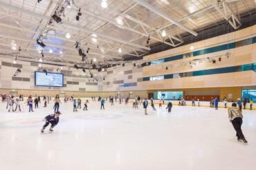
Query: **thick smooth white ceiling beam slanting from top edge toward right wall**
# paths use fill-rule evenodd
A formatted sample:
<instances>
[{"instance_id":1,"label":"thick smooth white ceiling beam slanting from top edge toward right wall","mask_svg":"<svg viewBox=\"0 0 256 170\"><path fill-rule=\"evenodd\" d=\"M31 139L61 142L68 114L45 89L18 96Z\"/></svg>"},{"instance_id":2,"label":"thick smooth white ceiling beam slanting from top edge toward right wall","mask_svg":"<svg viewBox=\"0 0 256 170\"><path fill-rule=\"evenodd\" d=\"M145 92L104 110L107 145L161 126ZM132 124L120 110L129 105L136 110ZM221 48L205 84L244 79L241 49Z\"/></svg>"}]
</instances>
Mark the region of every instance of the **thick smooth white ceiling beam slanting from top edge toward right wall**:
<instances>
[{"instance_id":1,"label":"thick smooth white ceiling beam slanting from top edge toward right wall","mask_svg":"<svg viewBox=\"0 0 256 170\"><path fill-rule=\"evenodd\" d=\"M156 14L158 14L159 16L163 17L164 19L166 19L167 21L170 21L172 23L174 23L175 25L179 26L180 28L182 28L183 30L186 30L188 32L190 32L191 34L193 34L194 36L197 36L197 32L194 32L193 30L191 30L190 28L187 28L185 25L179 23L178 21L176 21L175 19L173 19L172 17L170 17L168 14L165 14L165 12L158 10L156 8L154 8L154 6L150 5L149 3L147 3L146 1L143 0L134 0L137 3L139 3L141 6L144 6L145 8L151 10L152 12L155 12Z\"/></svg>"}]
</instances>

